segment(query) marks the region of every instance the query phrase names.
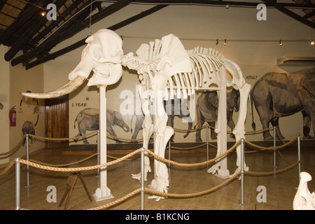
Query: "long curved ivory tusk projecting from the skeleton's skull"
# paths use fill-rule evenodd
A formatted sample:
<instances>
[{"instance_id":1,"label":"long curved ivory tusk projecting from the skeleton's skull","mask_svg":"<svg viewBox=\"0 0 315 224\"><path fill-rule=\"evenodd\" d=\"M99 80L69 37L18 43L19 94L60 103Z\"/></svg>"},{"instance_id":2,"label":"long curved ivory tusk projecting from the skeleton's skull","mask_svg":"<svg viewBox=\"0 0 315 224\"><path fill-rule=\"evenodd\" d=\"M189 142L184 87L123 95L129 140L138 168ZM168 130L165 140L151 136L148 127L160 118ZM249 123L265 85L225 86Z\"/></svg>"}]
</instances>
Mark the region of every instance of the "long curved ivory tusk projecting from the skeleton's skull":
<instances>
[{"instance_id":1,"label":"long curved ivory tusk projecting from the skeleton's skull","mask_svg":"<svg viewBox=\"0 0 315 224\"><path fill-rule=\"evenodd\" d=\"M76 90L80 85L83 84L85 79L86 78L83 76L77 76L75 79L73 79L72 81L69 81L69 83L66 83L66 85L60 87L57 90L53 90L51 92L41 92L41 93L22 92L22 95L25 97L36 98L36 99L50 99L50 98L61 97Z\"/></svg>"}]
</instances>

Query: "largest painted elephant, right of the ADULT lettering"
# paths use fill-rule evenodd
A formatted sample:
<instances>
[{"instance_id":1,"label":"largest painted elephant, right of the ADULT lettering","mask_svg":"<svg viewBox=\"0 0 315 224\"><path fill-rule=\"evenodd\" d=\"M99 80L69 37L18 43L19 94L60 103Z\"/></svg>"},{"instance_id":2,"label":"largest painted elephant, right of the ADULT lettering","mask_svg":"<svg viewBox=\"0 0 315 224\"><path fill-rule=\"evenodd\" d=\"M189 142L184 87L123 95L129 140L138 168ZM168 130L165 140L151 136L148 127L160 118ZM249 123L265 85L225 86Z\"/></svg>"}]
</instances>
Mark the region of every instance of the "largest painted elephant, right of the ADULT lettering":
<instances>
[{"instance_id":1,"label":"largest painted elephant, right of the ADULT lettering","mask_svg":"<svg viewBox=\"0 0 315 224\"><path fill-rule=\"evenodd\" d=\"M309 136L311 125L315 133L315 67L294 73L269 72L258 80L251 90L251 106L255 103L262 129L269 123L277 129L277 138L284 139L279 129L279 118L301 112L303 137ZM252 113L253 114L253 113ZM253 116L252 116L253 119ZM252 123L255 130L255 123ZM269 130L262 133L264 141L273 139ZM314 137L313 137L314 139Z\"/></svg>"}]
</instances>

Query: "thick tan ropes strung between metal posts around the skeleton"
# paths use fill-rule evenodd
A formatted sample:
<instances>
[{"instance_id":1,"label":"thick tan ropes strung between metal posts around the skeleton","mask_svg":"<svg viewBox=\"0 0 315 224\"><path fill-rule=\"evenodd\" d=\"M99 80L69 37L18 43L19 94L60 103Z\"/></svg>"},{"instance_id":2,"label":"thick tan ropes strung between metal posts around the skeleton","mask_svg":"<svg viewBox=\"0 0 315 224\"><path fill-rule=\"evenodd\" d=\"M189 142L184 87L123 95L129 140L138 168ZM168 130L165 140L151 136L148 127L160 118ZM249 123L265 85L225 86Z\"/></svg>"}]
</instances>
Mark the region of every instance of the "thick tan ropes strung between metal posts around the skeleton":
<instances>
[{"instance_id":1,"label":"thick tan ropes strung between metal posts around the skeleton","mask_svg":"<svg viewBox=\"0 0 315 224\"><path fill-rule=\"evenodd\" d=\"M202 128L204 128L204 127L202 127ZM177 130L177 129L174 129L174 130ZM270 130L270 129L268 128L266 130ZM179 130L179 131L183 131L183 130ZM262 131L264 131L264 130L262 130ZM90 134L86 134L84 136L80 136L80 137L62 138L62 139L53 139L53 138L47 138L47 137L36 137L35 135L31 135L31 134L29 136L30 137L34 137L34 138L38 138L38 139L64 141L64 140L69 140L69 139L78 139L78 138L81 138L81 137L87 137L87 136L92 135L92 134L94 134L96 132L97 131L92 132ZM113 137L110 134L108 134L108 137L112 137L114 139L121 139L123 141L139 141L139 139L122 139L122 138L118 138L118 137ZM246 144L248 144L250 146L253 146L255 148L259 148L260 150L276 150L276 149L280 149L280 148L285 148L286 146L289 146L289 145L293 144L293 142L298 137L300 137L300 134L297 134L297 136L294 139L288 141L287 143L282 141L283 145L281 145L281 146L263 147L263 146L258 146L256 144L252 144L250 141L246 141L246 140L244 141L244 143L246 143ZM20 145L22 144L22 141L24 141L24 139L25 139L25 137L23 137L23 139L20 141L18 146L15 146L15 148L13 148L12 151L10 151L8 153L3 153L3 154L10 154L10 153L13 153L13 152L15 153L15 151L17 151L18 148L20 148ZM228 155L228 153L234 151L235 148L237 148L237 146L239 146L239 144L241 144L241 140L237 141L235 143L235 145L232 146L228 151L226 151L225 153L223 153L222 155L219 155L218 157L216 157L214 159L207 160L207 161L204 161L204 162L192 163L192 164L174 162L172 160L167 160L165 158L162 158L159 155L156 155L155 153L153 153L152 151L150 151L148 149L145 149L145 151L149 155L152 155L155 159L160 160L162 162L167 162L169 164L176 165L176 166L179 166L179 167L197 167L197 166L207 165L207 164L209 164L211 162L215 162L217 160L220 160L225 155ZM207 145L207 144L202 144L201 146L194 146L194 147L190 147L190 148L179 148L179 147L171 147L171 148L189 150L189 149L200 148L200 147L205 146L205 145ZM107 162L106 164L94 165L94 166L90 166L90 167L64 168L64 167L69 166L69 165L75 165L75 164L78 164L78 163L83 162L85 160L89 160L90 158L92 158L95 155L97 155L97 153L94 154L94 155L91 155L88 158L85 158L83 160L79 160L78 162L72 162L72 163L64 164L64 165L50 165L50 164L46 164L46 163L43 163L43 162L38 162L36 160L23 160L23 159L19 159L18 162L20 162L22 164L25 164L25 165L29 165L31 167L36 167L38 169L45 169L45 170L49 170L49 171L53 171L53 172L79 172L79 171L87 171L87 170L99 169L99 168L102 168L102 167L108 167L108 166L111 166L111 165L115 165L116 163L122 162L123 160L127 160L128 158L130 158L133 155L136 155L137 153L140 153L140 152L141 152L141 148L136 150L136 151L134 151L134 152L132 152L132 153L130 153L130 154L128 154L128 155L123 156L122 158L118 158L118 159L113 160L111 162ZM0 154L0 155L3 155L3 154ZM248 175L252 175L252 176L267 176L267 175L271 175L271 174L279 174L281 172L286 172L288 169L291 169L291 168L295 167L295 165L298 165L299 163L300 163L300 160L298 160L297 162L294 162L293 164L289 165L288 167L276 170L274 172L249 172L249 171L246 171L246 172L244 172L244 174L248 174ZM5 169L3 169L2 172L0 172L0 176L5 174L6 172L8 172L8 170L11 167L13 167L13 165L14 165L14 161L10 162L9 165ZM198 193L188 193L188 194L164 193L164 192L153 190L151 188L144 188L144 191L147 192L147 193L152 193L154 195L161 195L161 196L165 196L165 197L197 197L197 196L200 196L200 195L205 195L207 193L211 193L214 190L217 190L218 188L221 188L221 187L225 186L226 184L228 184L231 181L233 181L234 179L236 179L237 176L239 176L240 174L241 174L241 172L237 172L232 177L230 177L230 179L228 179L227 181L221 183L220 185L218 185L218 186L216 186L214 188L210 188L208 190L204 190L204 191L198 192ZM139 192L141 192L141 188L139 188L137 190L134 190L132 193L129 193L129 194L125 195L124 197L121 197L120 199L118 199L116 201L110 202L110 203L105 204L105 205L103 205L101 207L92 208L90 210L99 210L99 209L105 209L105 208L108 208L108 207L112 207L113 205L118 204L120 202L123 202L124 200L127 200L127 198L132 197L133 195L136 195Z\"/></svg>"}]
</instances>

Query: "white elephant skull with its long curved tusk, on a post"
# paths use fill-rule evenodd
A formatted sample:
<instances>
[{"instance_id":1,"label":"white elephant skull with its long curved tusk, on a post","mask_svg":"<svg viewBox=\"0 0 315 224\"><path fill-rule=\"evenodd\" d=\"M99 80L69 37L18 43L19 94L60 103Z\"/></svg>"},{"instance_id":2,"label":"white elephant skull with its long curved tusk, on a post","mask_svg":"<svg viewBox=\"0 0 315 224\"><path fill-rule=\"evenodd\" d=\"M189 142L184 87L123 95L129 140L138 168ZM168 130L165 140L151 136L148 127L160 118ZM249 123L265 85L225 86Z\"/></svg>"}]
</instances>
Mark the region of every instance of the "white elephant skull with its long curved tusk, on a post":
<instances>
[{"instance_id":1,"label":"white elephant skull with its long curved tusk, on a post","mask_svg":"<svg viewBox=\"0 0 315 224\"><path fill-rule=\"evenodd\" d=\"M83 84L90 76L87 85L112 85L117 83L123 74L123 41L114 31L100 29L85 41L87 45L81 54L81 61L69 73L69 83L52 92L22 93L26 97L48 99L69 94Z\"/></svg>"}]
</instances>

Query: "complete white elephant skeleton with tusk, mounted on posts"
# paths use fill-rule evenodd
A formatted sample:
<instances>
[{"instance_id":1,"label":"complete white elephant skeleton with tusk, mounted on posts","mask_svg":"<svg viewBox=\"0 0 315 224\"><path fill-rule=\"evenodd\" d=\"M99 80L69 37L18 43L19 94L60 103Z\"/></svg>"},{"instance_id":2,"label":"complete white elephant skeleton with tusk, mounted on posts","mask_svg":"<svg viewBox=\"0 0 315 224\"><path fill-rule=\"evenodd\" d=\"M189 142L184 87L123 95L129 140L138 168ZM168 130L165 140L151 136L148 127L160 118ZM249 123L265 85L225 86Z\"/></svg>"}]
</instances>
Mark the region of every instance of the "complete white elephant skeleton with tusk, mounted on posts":
<instances>
[{"instance_id":1,"label":"complete white elephant skeleton with tusk, mounted on posts","mask_svg":"<svg viewBox=\"0 0 315 224\"><path fill-rule=\"evenodd\" d=\"M183 94L183 98L187 98L195 94L196 90L209 90L213 85L220 87L221 78L226 78L226 86L239 90L239 118L233 134L235 134L236 141L244 138L246 106L251 85L245 82L239 66L211 48L197 47L193 50L185 50L179 38L173 34L151 41L149 44L142 44L137 50L137 55L132 52L123 55L120 36L109 29L101 29L87 38L87 46L83 50L81 62L69 74L71 81L67 85L44 94L25 93L25 95L33 98L47 98L67 94L82 84L90 76L90 71L94 71L94 75L87 85L111 85L116 83L122 75L121 65L134 69L139 74L141 107L145 116L143 144L145 148L148 148L151 134L154 132L154 152L160 157L165 157L165 146L174 134L173 128L167 126L168 117L163 106L163 99L174 99L175 95L179 98L181 94ZM226 71L227 76L221 77L221 71ZM148 94L148 90L151 91L151 96ZM148 107L151 97L155 104L154 123ZM218 123L220 121L221 115L219 114ZM220 132L219 127L219 125L216 127L217 133ZM240 150L240 146L237 147L238 170L241 167ZM220 148L217 151L218 155L221 155ZM150 172L148 156L146 156L145 165L146 173ZM169 186L167 166L164 162L155 159L154 168L155 176L151 182L151 188L167 193ZM217 163L208 172L215 173L218 169L220 169L220 165ZM157 200L161 198L153 197Z\"/></svg>"}]
</instances>

